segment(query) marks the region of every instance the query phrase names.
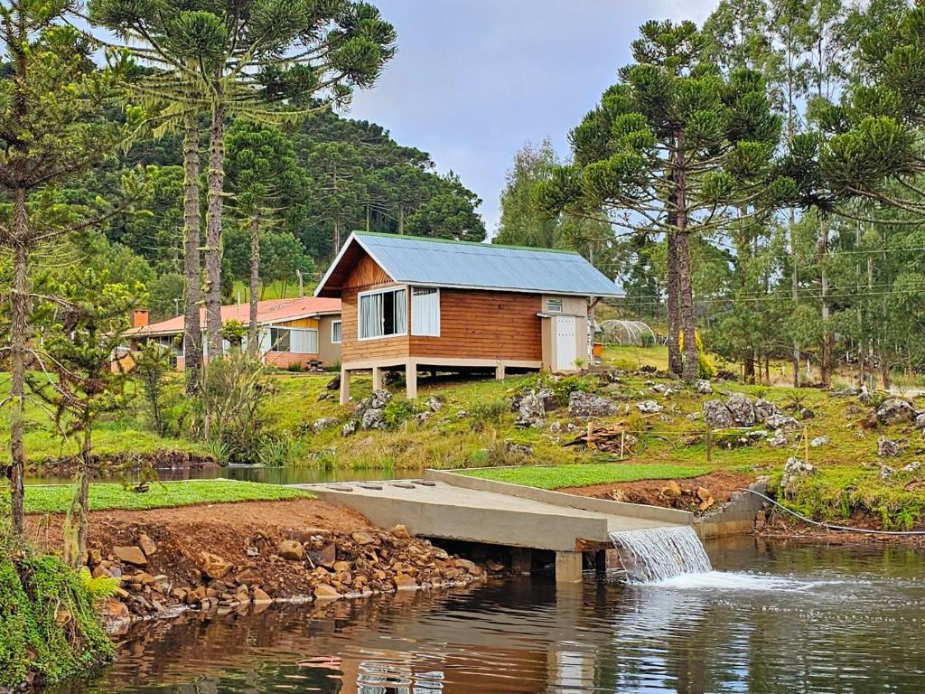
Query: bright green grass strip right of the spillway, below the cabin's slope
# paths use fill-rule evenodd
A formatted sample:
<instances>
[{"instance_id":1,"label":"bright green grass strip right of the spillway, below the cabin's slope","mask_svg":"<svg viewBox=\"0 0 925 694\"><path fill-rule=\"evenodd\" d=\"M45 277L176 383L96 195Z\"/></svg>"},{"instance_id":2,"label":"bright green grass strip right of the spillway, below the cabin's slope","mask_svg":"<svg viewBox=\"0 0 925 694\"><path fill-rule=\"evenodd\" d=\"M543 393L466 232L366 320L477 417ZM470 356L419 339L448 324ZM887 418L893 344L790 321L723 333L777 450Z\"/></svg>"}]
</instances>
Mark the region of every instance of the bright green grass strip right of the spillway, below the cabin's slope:
<instances>
[{"instance_id":1,"label":"bright green grass strip right of the spillway, below the cabin's slope","mask_svg":"<svg viewBox=\"0 0 925 694\"><path fill-rule=\"evenodd\" d=\"M713 468L707 465L661 465L604 463L589 465L557 465L555 467L494 467L484 470L464 470L462 475L510 482L541 490L563 487L587 487L611 482L634 482L637 479L677 479L699 477Z\"/></svg>"}]
</instances>

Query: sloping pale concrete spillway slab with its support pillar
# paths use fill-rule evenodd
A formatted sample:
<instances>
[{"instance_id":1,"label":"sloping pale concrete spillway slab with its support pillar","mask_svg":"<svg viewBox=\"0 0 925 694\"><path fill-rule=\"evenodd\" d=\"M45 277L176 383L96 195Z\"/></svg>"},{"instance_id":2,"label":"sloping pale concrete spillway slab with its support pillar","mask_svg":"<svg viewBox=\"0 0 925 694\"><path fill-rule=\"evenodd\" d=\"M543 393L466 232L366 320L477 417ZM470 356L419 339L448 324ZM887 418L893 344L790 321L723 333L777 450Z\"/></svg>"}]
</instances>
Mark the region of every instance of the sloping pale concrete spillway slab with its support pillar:
<instances>
[{"instance_id":1,"label":"sloping pale concrete spillway slab with its support pillar","mask_svg":"<svg viewBox=\"0 0 925 694\"><path fill-rule=\"evenodd\" d=\"M556 552L556 577L581 580L582 552L612 547L611 534L691 526L685 511L588 499L438 470L424 481L299 485L380 527L402 524L429 538Z\"/></svg>"}]
</instances>

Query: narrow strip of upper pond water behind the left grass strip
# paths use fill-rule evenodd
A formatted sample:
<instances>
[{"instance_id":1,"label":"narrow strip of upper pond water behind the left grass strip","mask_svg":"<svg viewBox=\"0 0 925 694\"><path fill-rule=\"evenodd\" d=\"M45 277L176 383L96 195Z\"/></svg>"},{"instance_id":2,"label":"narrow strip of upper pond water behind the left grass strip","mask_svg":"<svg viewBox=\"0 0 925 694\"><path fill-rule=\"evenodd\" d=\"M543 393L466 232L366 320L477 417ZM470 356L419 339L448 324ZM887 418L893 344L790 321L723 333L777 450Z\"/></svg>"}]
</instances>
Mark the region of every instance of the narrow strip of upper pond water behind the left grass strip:
<instances>
[{"instance_id":1,"label":"narrow strip of upper pond water behind the left grass strip","mask_svg":"<svg viewBox=\"0 0 925 694\"><path fill-rule=\"evenodd\" d=\"M362 482L372 479L408 479L421 477L424 470L388 469L324 469L320 467L290 465L287 467L265 467L263 465L228 465L225 467L202 467L191 469L157 470L157 477L168 482L177 479L243 479L248 482L266 482L268 484L314 484L316 482ZM137 474L129 478L137 478ZM70 477L26 477L27 485L34 484L70 484ZM113 477L94 477L95 482L118 482Z\"/></svg>"}]
</instances>

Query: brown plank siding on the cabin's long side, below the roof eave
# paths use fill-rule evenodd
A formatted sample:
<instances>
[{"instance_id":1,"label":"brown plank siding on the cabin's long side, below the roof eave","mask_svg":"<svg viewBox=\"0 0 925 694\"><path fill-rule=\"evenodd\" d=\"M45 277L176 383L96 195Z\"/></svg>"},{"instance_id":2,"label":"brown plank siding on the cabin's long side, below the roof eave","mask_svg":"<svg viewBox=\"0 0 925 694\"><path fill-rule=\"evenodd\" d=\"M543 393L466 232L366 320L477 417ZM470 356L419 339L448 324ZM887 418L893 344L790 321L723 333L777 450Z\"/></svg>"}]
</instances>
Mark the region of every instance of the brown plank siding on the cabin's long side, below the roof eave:
<instances>
[{"instance_id":1,"label":"brown plank siding on the cabin's long side, below the roof eave","mask_svg":"<svg viewBox=\"0 0 925 694\"><path fill-rule=\"evenodd\" d=\"M538 362L540 306L537 294L441 289L440 336L412 336L410 355Z\"/></svg>"}]
</instances>

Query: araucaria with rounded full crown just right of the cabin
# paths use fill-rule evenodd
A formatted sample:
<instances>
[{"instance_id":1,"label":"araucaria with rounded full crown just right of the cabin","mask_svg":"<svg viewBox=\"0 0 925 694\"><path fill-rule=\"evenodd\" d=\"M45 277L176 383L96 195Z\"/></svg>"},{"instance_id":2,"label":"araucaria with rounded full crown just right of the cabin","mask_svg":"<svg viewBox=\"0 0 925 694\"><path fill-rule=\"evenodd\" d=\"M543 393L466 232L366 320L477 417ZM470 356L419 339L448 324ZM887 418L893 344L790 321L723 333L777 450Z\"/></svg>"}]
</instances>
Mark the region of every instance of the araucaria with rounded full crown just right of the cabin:
<instances>
[{"instance_id":1,"label":"araucaria with rounded full crown just right of the cabin","mask_svg":"<svg viewBox=\"0 0 925 694\"><path fill-rule=\"evenodd\" d=\"M781 119L758 73L725 75L702 60L692 22L649 21L640 34L635 64L572 131L573 164L540 195L550 210L604 211L616 226L667 238L670 367L691 381L691 236L766 215L792 184L773 175Z\"/></svg>"}]
</instances>

